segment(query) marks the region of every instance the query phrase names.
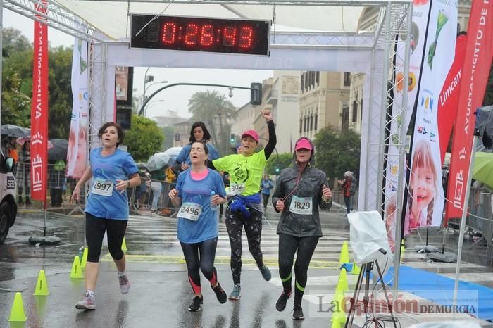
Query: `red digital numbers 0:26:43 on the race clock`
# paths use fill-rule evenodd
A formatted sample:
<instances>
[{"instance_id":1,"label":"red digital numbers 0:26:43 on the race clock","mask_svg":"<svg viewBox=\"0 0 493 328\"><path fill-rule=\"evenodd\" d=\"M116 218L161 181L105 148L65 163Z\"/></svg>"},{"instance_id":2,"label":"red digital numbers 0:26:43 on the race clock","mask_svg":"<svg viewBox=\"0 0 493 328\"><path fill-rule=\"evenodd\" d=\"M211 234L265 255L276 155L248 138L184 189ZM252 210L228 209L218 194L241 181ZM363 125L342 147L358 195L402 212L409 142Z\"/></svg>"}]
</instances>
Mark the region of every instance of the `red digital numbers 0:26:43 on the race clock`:
<instances>
[{"instance_id":1,"label":"red digital numbers 0:26:43 on the race clock","mask_svg":"<svg viewBox=\"0 0 493 328\"><path fill-rule=\"evenodd\" d=\"M218 26L211 23L166 22L161 25L161 42L164 45L182 44L187 48L225 46L242 50L254 44L254 28L243 26Z\"/></svg>"}]
</instances>

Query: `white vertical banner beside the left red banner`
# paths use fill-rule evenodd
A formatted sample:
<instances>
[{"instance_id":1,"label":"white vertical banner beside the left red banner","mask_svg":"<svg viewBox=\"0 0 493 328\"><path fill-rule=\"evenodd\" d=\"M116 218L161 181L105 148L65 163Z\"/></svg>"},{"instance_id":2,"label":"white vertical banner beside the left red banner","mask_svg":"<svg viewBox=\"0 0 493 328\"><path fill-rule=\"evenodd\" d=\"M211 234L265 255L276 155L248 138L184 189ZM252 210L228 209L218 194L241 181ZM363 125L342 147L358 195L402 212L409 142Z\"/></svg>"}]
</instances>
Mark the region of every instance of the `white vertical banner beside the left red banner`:
<instances>
[{"instance_id":1,"label":"white vertical banner beside the left red banner","mask_svg":"<svg viewBox=\"0 0 493 328\"><path fill-rule=\"evenodd\" d=\"M79 179L86 167L89 125L87 42L75 38L72 58L72 115L67 151L67 176Z\"/></svg>"}]
</instances>

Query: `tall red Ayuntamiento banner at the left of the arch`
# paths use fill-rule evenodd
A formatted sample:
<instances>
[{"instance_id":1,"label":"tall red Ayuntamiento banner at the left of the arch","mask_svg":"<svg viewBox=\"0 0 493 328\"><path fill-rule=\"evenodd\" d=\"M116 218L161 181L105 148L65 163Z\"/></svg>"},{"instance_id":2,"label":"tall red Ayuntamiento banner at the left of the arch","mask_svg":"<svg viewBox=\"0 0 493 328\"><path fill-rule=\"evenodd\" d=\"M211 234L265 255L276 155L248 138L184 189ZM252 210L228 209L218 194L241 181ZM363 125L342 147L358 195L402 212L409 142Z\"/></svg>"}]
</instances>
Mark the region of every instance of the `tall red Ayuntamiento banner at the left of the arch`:
<instances>
[{"instance_id":1,"label":"tall red Ayuntamiento banner at the left of the arch","mask_svg":"<svg viewBox=\"0 0 493 328\"><path fill-rule=\"evenodd\" d=\"M46 0L37 11L46 13ZM40 16L38 16L41 18ZM48 27L35 21L31 103L31 197L44 201L48 177Z\"/></svg>"}]
</instances>

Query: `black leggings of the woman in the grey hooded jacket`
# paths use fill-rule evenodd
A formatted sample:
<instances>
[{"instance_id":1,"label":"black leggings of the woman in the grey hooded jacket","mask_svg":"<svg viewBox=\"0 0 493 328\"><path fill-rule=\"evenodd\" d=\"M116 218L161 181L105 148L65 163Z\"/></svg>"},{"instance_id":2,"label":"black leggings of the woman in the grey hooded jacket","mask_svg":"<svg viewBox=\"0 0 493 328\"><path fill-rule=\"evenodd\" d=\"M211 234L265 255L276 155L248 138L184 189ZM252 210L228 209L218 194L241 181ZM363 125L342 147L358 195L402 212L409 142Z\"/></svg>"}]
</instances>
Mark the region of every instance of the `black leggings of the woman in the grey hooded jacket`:
<instances>
[{"instance_id":1,"label":"black leggings of the woman in the grey hooded jacket","mask_svg":"<svg viewBox=\"0 0 493 328\"><path fill-rule=\"evenodd\" d=\"M289 234L279 234L279 276L285 292L291 292L291 268L293 267L294 253L297 253L294 263L294 305L301 305L301 298L305 291L308 276L308 266L311 256L318 243L318 237L294 237Z\"/></svg>"}]
</instances>

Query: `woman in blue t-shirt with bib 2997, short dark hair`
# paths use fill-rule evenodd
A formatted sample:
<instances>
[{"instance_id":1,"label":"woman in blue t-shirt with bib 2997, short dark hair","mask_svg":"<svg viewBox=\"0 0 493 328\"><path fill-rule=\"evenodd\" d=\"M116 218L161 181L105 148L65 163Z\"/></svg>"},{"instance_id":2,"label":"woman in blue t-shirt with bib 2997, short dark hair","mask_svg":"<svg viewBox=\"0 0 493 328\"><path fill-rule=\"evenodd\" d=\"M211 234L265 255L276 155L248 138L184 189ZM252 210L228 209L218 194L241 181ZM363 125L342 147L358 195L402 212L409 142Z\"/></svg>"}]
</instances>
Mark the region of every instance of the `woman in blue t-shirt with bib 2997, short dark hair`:
<instances>
[{"instance_id":1,"label":"woman in blue t-shirt with bib 2997, short dark hair","mask_svg":"<svg viewBox=\"0 0 493 328\"><path fill-rule=\"evenodd\" d=\"M130 289L125 273L125 253L121 249L128 220L127 188L140 184L139 169L132 156L118 149L123 141L123 129L115 122L99 129L102 147L93 149L89 166L74 188L71 200L79 200L80 187L93 178L85 206L85 235L89 252L85 274L85 297L75 305L79 310L94 310L94 290L99 274L99 256L104 232L108 234L108 250L118 269L120 291Z\"/></svg>"}]
</instances>

